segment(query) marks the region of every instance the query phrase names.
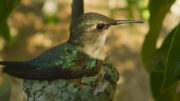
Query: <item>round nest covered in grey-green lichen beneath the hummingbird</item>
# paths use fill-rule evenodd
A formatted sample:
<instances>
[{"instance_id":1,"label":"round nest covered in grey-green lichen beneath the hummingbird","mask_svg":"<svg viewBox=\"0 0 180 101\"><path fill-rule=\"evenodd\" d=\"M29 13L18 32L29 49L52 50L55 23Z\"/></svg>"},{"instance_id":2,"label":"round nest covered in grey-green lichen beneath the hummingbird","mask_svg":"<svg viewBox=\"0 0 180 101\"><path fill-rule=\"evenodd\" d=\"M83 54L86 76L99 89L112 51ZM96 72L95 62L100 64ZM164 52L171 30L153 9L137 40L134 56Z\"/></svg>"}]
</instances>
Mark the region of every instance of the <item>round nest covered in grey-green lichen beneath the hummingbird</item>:
<instances>
[{"instance_id":1,"label":"round nest covered in grey-green lichen beneath the hummingbird","mask_svg":"<svg viewBox=\"0 0 180 101\"><path fill-rule=\"evenodd\" d=\"M112 101L119 74L104 62L95 76L74 80L23 80L24 101Z\"/></svg>"}]
</instances>

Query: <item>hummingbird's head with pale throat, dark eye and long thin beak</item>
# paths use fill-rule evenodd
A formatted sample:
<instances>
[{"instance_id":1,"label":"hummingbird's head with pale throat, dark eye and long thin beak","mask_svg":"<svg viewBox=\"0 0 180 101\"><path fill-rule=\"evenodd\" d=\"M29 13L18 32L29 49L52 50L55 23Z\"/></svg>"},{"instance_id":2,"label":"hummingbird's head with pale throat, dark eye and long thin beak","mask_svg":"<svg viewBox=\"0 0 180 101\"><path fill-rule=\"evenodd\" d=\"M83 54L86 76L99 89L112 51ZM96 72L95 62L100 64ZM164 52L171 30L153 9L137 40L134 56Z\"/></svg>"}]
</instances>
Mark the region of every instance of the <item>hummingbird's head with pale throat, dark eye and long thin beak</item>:
<instances>
[{"instance_id":1,"label":"hummingbird's head with pale throat, dark eye and long thin beak","mask_svg":"<svg viewBox=\"0 0 180 101\"><path fill-rule=\"evenodd\" d=\"M114 20L98 13L85 13L71 26L69 42L88 55L98 58L111 26L123 23L142 23L133 20Z\"/></svg>"}]
</instances>

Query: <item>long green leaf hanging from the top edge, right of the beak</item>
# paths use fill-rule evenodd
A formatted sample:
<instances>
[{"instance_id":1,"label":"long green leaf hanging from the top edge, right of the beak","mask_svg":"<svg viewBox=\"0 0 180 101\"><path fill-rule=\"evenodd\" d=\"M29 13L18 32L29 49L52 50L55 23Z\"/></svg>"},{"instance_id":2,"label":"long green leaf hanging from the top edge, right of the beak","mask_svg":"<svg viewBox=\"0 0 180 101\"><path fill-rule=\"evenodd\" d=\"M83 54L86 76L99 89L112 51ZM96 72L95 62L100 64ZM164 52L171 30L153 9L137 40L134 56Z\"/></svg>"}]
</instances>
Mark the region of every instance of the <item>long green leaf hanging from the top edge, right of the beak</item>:
<instances>
[{"instance_id":1,"label":"long green leaf hanging from the top edge, right of the beak","mask_svg":"<svg viewBox=\"0 0 180 101\"><path fill-rule=\"evenodd\" d=\"M146 64L156 50L156 42L160 33L162 22L175 0L150 0L149 1L149 32L145 37L142 48L142 60Z\"/></svg>"}]
</instances>

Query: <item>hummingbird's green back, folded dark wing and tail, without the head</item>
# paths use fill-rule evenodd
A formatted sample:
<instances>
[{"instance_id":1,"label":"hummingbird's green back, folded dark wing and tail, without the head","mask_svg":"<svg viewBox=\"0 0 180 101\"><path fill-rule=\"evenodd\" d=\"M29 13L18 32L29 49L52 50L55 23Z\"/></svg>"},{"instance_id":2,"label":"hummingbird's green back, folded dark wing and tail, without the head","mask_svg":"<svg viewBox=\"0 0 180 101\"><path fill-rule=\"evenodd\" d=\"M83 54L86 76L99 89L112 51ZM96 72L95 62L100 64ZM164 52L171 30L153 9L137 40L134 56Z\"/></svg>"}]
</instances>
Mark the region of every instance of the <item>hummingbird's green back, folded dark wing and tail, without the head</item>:
<instances>
[{"instance_id":1,"label":"hummingbird's green back, folded dark wing and tail, without the head","mask_svg":"<svg viewBox=\"0 0 180 101\"><path fill-rule=\"evenodd\" d=\"M14 65L17 65L16 63L14 62ZM12 63L9 62L9 64ZM74 79L96 74L99 64L99 60L65 43L44 52L33 60L19 63L15 67L5 64L3 71L31 80Z\"/></svg>"}]
</instances>

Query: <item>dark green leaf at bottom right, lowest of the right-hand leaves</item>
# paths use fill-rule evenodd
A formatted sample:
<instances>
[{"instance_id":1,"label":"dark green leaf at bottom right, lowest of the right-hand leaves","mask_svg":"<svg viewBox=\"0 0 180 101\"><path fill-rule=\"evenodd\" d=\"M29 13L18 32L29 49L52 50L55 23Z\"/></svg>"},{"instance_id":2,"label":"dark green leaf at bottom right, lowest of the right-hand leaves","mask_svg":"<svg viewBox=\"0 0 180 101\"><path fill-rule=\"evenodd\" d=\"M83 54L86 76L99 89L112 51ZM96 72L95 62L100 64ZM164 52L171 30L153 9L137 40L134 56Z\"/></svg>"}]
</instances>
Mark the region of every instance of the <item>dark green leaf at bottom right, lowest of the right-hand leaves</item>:
<instances>
[{"instance_id":1,"label":"dark green leaf at bottom right, lowest of the right-hand leaves","mask_svg":"<svg viewBox=\"0 0 180 101\"><path fill-rule=\"evenodd\" d=\"M166 92L161 92L161 85L163 83L164 72L152 72L150 73L150 85L152 96L155 101L176 101L177 94L177 83L174 84L169 90Z\"/></svg>"}]
</instances>

